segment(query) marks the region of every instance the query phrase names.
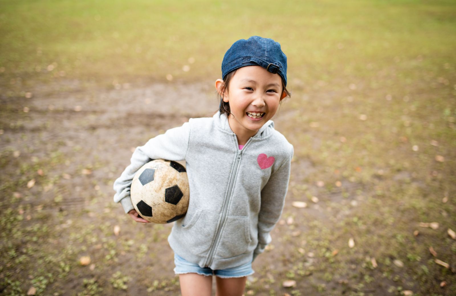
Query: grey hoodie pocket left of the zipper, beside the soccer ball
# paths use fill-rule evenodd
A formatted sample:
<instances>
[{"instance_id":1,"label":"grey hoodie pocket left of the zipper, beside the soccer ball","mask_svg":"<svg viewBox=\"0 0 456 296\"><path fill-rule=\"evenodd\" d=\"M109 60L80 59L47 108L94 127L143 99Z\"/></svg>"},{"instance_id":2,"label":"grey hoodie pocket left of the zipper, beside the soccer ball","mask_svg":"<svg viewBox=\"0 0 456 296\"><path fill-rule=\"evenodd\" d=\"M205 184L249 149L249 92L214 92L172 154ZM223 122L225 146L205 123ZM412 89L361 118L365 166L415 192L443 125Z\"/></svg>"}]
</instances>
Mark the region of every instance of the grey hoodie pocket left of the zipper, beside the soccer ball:
<instances>
[{"instance_id":1,"label":"grey hoodie pocket left of the zipper, beside the soccer ball","mask_svg":"<svg viewBox=\"0 0 456 296\"><path fill-rule=\"evenodd\" d=\"M192 218L176 229L176 238L190 252L205 256L214 239L219 215L197 209Z\"/></svg>"}]
</instances>

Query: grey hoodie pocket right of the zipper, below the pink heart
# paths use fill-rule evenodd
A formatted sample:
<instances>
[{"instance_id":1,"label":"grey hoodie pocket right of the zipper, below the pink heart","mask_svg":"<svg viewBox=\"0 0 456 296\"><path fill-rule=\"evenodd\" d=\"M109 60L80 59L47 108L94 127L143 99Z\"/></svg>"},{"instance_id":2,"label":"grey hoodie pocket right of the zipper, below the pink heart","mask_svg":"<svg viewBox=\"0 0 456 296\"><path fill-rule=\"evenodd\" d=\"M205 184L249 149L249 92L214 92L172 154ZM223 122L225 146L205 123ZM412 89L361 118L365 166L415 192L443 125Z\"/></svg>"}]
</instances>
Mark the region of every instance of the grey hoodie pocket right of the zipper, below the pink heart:
<instances>
[{"instance_id":1,"label":"grey hoodie pocket right of the zipper, below the pink heart","mask_svg":"<svg viewBox=\"0 0 456 296\"><path fill-rule=\"evenodd\" d=\"M230 217L225 220L216 257L230 258L244 254L252 241L249 217Z\"/></svg>"}]
</instances>

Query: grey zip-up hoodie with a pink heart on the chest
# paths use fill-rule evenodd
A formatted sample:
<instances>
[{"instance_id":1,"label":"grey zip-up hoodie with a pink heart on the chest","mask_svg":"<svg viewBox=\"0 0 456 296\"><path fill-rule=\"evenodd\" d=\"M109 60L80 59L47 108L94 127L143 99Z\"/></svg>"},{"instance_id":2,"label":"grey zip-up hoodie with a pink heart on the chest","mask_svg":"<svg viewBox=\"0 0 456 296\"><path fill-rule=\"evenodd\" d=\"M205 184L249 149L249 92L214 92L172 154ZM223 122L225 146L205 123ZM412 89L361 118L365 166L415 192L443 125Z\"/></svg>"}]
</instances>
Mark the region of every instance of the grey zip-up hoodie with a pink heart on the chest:
<instances>
[{"instance_id":1,"label":"grey zip-up hoodie with a pink heart on the chest","mask_svg":"<svg viewBox=\"0 0 456 296\"><path fill-rule=\"evenodd\" d=\"M243 265L264 251L280 218L290 178L293 146L269 120L242 150L225 114L190 119L137 147L114 182L114 202L133 209L130 185L150 159L186 161L187 214L168 242L189 262L212 270Z\"/></svg>"}]
</instances>

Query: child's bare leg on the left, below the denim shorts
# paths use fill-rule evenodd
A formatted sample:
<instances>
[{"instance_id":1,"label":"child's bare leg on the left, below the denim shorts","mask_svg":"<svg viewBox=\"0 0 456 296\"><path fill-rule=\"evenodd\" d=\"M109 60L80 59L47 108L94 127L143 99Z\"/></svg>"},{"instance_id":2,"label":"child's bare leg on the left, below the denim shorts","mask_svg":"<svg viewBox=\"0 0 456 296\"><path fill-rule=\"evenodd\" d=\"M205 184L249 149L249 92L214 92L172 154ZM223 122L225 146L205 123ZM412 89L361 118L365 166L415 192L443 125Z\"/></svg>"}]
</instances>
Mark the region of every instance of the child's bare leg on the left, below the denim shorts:
<instances>
[{"instance_id":1,"label":"child's bare leg on the left, below the denim shorts","mask_svg":"<svg viewBox=\"0 0 456 296\"><path fill-rule=\"evenodd\" d=\"M182 296L211 296L212 276L185 273L179 275Z\"/></svg>"}]
</instances>

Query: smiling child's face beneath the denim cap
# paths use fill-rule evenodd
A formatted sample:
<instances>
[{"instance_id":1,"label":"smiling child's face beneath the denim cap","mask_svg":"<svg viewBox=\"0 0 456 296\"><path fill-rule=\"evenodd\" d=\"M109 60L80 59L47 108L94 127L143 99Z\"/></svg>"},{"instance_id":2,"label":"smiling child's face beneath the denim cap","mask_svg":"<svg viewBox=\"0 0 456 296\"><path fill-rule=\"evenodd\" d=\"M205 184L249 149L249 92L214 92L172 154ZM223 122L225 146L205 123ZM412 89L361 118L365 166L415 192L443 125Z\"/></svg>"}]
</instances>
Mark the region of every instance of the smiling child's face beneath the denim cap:
<instances>
[{"instance_id":1,"label":"smiling child's face beneath the denim cap","mask_svg":"<svg viewBox=\"0 0 456 296\"><path fill-rule=\"evenodd\" d=\"M237 135L255 135L274 116L285 97L282 91L279 74L270 73L260 66L237 69L228 92L223 96L223 101L229 102L230 106L228 122L231 130Z\"/></svg>"}]
</instances>

